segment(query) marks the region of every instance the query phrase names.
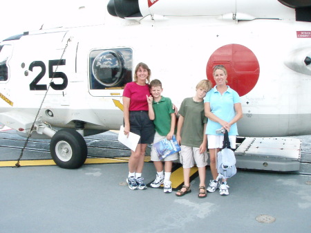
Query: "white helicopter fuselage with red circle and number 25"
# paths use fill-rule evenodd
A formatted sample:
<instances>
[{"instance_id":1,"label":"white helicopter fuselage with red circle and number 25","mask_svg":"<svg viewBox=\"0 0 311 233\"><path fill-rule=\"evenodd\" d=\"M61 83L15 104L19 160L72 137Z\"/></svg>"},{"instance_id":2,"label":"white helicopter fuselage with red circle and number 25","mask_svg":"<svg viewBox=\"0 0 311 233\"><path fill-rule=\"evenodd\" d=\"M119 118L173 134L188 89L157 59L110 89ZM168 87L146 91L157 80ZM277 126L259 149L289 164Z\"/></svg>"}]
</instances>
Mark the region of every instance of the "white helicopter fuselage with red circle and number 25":
<instances>
[{"instance_id":1,"label":"white helicopter fuselage with red circle and number 25","mask_svg":"<svg viewBox=\"0 0 311 233\"><path fill-rule=\"evenodd\" d=\"M178 107L200 80L213 81L214 65L224 64L228 85L241 95L240 136L311 134L311 65L305 62L311 57L311 23L295 21L294 9L276 3L279 8L269 8L266 18L254 18L256 8L248 15L227 15L224 8L217 17L165 16L170 13L157 14L158 1L155 12L138 19L106 15L102 25L38 30L2 41L8 77L0 81L0 122L28 133L40 109L38 124L75 127L84 135L120 129L125 83L93 86L94 61L112 51L124 59L119 66L123 62L126 70L117 72L127 73L127 82L144 62L151 80L161 80L162 94ZM274 12L290 17L270 19Z\"/></svg>"}]
</instances>

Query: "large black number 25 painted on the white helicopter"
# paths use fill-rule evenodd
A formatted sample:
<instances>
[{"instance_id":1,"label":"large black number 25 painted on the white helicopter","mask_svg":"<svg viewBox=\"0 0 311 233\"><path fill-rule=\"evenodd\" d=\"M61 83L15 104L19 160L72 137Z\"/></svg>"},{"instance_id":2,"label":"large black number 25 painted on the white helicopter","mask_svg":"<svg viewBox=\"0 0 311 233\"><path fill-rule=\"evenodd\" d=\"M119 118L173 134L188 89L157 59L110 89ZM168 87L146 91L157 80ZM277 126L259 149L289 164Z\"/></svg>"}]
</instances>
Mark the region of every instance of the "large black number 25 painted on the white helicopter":
<instances>
[{"instance_id":1,"label":"large black number 25 painted on the white helicopter","mask_svg":"<svg viewBox=\"0 0 311 233\"><path fill-rule=\"evenodd\" d=\"M50 87L54 90L64 90L68 85L68 78L63 72L54 72L53 66L64 66L66 65L66 59L61 60L50 60L48 61L48 77L50 78L62 78L62 84L55 84L54 82L50 83ZM46 91L48 86L46 84L38 84L42 77L46 74L46 65L44 62L35 61L32 62L29 66L29 71L32 71L34 67L40 67L41 72L35 77L34 80L29 84L31 91Z\"/></svg>"}]
</instances>

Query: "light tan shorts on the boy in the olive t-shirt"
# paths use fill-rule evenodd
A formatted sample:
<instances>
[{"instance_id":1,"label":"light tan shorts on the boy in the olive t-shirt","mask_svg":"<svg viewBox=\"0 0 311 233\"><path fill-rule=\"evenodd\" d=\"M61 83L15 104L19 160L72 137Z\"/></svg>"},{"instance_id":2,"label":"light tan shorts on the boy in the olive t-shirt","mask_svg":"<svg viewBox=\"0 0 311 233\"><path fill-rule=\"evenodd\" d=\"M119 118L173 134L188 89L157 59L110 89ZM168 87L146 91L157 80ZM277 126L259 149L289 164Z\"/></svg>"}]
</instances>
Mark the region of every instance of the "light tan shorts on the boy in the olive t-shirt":
<instances>
[{"instance_id":1,"label":"light tan shorts on the boy in the olive t-shirt","mask_svg":"<svg viewBox=\"0 0 311 233\"><path fill-rule=\"evenodd\" d=\"M207 159L209 156L206 151L200 153L200 148L198 147L180 146L180 148L180 162L183 168L194 167L195 163L196 167L205 167L207 165Z\"/></svg>"}]
</instances>

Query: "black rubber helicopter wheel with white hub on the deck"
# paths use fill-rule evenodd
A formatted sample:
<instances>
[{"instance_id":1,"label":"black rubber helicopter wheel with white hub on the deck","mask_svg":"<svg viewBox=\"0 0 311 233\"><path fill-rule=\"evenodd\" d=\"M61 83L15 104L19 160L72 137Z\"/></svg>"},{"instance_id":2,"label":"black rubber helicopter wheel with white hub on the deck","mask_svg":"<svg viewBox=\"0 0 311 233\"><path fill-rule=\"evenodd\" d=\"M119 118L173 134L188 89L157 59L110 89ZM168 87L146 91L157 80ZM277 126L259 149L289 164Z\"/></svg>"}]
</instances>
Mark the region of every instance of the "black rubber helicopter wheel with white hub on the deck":
<instances>
[{"instance_id":1,"label":"black rubber helicopter wheel with white hub on the deck","mask_svg":"<svg viewBox=\"0 0 311 233\"><path fill-rule=\"evenodd\" d=\"M50 153L59 167L76 169L84 164L88 148L75 129L61 129L50 140Z\"/></svg>"}]
</instances>

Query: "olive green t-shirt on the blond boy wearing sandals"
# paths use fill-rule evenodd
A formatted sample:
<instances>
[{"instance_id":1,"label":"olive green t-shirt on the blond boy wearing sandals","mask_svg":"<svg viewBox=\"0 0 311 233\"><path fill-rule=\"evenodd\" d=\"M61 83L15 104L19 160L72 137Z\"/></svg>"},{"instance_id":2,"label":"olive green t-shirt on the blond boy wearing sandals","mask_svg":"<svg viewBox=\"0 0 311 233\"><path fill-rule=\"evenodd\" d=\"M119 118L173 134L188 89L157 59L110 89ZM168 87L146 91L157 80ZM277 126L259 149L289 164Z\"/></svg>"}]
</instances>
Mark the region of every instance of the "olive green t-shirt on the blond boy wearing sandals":
<instances>
[{"instance_id":1,"label":"olive green t-shirt on the blond boy wearing sandals","mask_svg":"<svg viewBox=\"0 0 311 233\"><path fill-rule=\"evenodd\" d=\"M180 134L181 145L200 147L205 133L204 124L207 123L204 113L204 102L195 102L192 97L185 98L178 113L184 117Z\"/></svg>"}]
</instances>

